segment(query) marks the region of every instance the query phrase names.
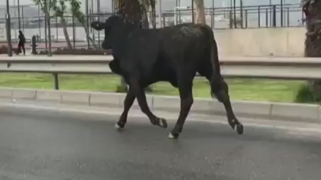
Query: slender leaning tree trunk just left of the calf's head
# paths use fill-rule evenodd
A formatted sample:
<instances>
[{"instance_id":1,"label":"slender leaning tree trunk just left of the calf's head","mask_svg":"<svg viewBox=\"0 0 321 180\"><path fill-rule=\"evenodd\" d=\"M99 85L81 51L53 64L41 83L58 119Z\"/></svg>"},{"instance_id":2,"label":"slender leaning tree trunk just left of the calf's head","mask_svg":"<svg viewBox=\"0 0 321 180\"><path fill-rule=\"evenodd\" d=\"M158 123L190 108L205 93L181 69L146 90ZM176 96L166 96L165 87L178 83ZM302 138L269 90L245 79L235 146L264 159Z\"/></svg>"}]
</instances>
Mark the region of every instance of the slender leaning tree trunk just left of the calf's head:
<instances>
[{"instance_id":1,"label":"slender leaning tree trunk just left of the calf's head","mask_svg":"<svg viewBox=\"0 0 321 180\"><path fill-rule=\"evenodd\" d=\"M71 4L71 14L72 14L72 16L77 18L77 20L84 27L85 33L86 33L86 37L89 37L89 41L94 46L94 48L95 49L99 49L99 47L94 43L93 39L90 36L88 36L89 32L88 32L88 29L86 28L87 27L87 21L86 21L84 13L82 13L81 10L80 10L80 8L81 8L80 0L67 0L67 1L69 1L70 4Z\"/></svg>"}]
</instances>

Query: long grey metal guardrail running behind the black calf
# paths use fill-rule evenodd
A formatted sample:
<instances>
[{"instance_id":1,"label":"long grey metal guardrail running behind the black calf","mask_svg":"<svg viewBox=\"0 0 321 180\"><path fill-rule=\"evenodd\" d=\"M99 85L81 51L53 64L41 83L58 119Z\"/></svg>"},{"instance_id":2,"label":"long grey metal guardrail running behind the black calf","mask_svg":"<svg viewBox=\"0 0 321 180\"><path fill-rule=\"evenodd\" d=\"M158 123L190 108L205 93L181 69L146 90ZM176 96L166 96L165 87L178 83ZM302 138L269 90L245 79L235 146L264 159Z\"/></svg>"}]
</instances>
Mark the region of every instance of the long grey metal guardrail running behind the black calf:
<instances>
[{"instance_id":1,"label":"long grey metal guardrail running behind the black calf","mask_svg":"<svg viewBox=\"0 0 321 180\"><path fill-rule=\"evenodd\" d=\"M0 56L0 72L111 74L110 55ZM221 73L229 78L321 79L321 58L221 57Z\"/></svg>"}]
</instances>

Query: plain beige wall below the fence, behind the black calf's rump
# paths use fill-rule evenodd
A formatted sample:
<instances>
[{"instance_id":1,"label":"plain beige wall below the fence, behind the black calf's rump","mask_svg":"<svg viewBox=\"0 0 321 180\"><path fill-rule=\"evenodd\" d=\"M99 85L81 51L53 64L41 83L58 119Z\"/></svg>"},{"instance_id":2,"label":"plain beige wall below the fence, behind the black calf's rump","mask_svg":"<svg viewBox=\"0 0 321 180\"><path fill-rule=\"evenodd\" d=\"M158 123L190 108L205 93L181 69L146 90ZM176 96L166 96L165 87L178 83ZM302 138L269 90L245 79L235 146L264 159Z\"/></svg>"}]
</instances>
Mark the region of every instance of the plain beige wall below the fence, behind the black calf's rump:
<instances>
[{"instance_id":1,"label":"plain beige wall below the fence, behind the black calf's rump","mask_svg":"<svg viewBox=\"0 0 321 180\"><path fill-rule=\"evenodd\" d=\"M305 27L214 30L224 56L303 56Z\"/></svg>"}]
</instances>

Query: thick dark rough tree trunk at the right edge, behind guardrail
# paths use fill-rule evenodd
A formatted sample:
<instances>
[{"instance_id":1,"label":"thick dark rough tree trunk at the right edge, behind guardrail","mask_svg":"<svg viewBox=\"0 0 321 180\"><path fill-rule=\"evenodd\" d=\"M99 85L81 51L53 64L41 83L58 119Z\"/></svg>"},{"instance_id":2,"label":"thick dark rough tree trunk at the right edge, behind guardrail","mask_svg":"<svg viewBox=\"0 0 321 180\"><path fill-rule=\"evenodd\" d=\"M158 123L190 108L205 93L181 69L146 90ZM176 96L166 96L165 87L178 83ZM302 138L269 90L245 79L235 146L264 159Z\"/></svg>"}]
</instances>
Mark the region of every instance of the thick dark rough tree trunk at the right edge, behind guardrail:
<instances>
[{"instance_id":1,"label":"thick dark rough tree trunk at the right edge, behind guardrail","mask_svg":"<svg viewBox=\"0 0 321 180\"><path fill-rule=\"evenodd\" d=\"M306 22L306 57L321 57L321 0L302 0ZM321 81L310 81L315 101L321 101Z\"/></svg>"}]
</instances>

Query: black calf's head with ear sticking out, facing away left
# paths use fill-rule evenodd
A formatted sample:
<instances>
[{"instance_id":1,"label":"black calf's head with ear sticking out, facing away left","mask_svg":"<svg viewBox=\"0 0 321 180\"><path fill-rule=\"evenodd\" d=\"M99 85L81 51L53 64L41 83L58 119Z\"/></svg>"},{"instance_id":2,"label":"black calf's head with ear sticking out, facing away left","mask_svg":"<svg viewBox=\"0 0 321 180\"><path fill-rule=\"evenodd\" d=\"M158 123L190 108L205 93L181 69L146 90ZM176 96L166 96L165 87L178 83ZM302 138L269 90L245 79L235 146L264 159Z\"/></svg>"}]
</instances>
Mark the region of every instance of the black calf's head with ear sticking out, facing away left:
<instances>
[{"instance_id":1,"label":"black calf's head with ear sticking out, facing away left","mask_svg":"<svg viewBox=\"0 0 321 180\"><path fill-rule=\"evenodd\" d=\"M105 30L105 39L102 42L103 49L111 49L113 43L119 41L119 37L124 36L125 23L119 16L113 15L107 18L106 22L93 21L91 27L97 31Z\"/></svg>"}]
</instances>

